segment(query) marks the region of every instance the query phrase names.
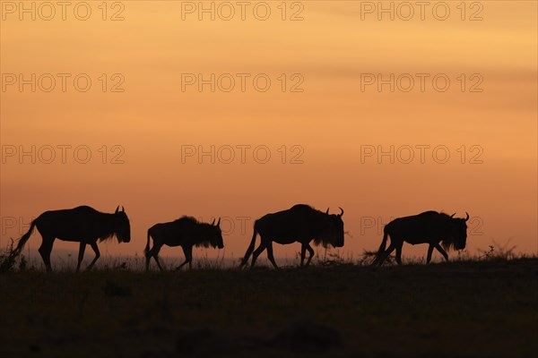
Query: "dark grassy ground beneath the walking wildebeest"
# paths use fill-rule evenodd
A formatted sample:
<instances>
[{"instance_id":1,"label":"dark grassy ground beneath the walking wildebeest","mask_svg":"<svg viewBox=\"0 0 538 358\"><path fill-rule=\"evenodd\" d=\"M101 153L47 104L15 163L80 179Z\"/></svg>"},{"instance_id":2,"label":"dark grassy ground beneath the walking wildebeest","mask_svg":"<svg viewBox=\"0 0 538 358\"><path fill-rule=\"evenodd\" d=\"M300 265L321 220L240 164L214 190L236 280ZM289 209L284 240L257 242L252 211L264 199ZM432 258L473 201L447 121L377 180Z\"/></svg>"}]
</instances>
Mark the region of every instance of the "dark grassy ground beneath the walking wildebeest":
<instances>
[{"instance_id":1,"label":"dark grassy ground beneath the walking wildebeest","mask_svg":"<svg viewBox=\"0 0 538 358\"><path fill-rule=\"evenodd\" d=\"M0 357L530 357L538 260L0 274Z\"/></svg>"}]
</instances>

